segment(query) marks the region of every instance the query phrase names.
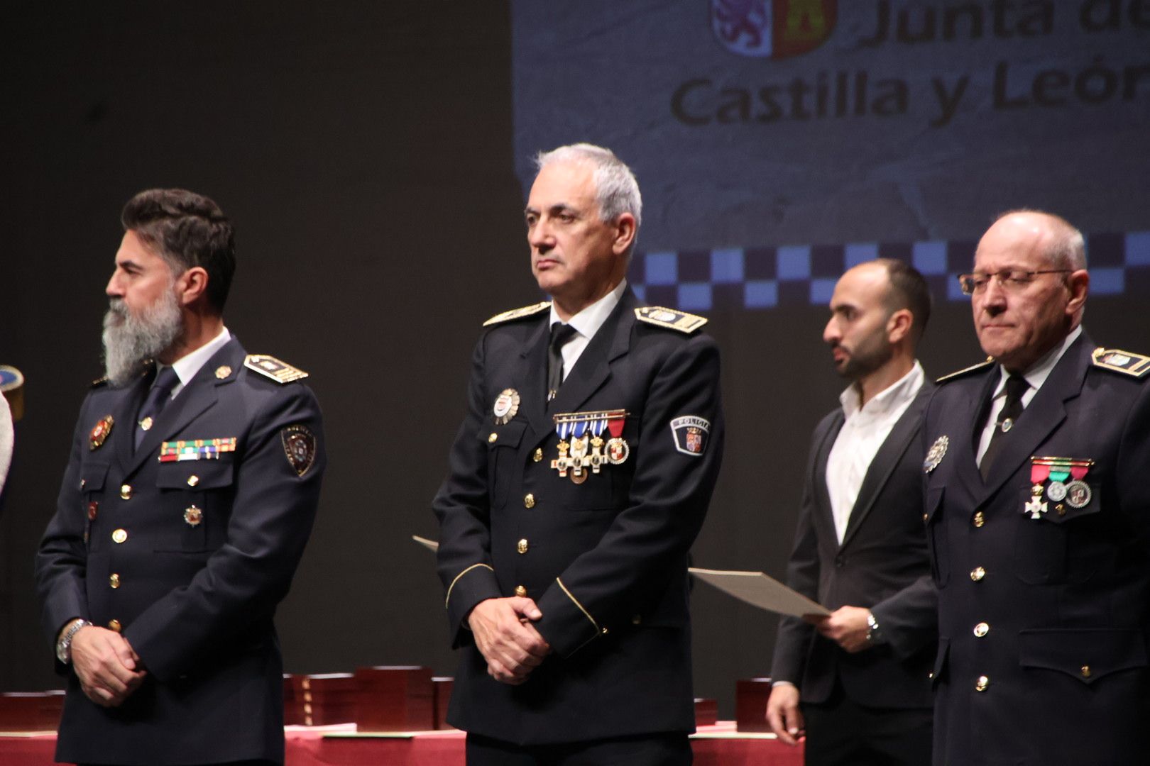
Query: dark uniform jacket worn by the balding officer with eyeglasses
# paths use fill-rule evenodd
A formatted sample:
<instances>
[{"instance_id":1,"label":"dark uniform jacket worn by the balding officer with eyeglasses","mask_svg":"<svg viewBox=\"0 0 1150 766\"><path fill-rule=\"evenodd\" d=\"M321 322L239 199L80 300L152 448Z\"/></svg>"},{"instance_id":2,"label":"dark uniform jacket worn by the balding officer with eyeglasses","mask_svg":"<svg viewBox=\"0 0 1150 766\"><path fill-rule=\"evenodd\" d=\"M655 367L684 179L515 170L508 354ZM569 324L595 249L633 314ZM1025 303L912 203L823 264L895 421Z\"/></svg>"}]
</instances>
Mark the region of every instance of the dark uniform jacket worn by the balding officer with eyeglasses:
<instances>
[{"instance_id":1,"label":"dark uniform jacket worn by the balding officer with eyeglasses","mask_svg":"<svg viewBox=\"0 0 1150 766\"><path fill-rule=\"evenodd\" d=\"M923 443L949 439L926 477L936 764L1125 766L1150 752L1150 386L1094 365L1094 348L1083 334L1067 349L986 482L974 444L998 366L944 382L927 408ZM1043 494L1032 519L1032 456L1092 459L1090 501Z\"/></svg>"}]
</instances>

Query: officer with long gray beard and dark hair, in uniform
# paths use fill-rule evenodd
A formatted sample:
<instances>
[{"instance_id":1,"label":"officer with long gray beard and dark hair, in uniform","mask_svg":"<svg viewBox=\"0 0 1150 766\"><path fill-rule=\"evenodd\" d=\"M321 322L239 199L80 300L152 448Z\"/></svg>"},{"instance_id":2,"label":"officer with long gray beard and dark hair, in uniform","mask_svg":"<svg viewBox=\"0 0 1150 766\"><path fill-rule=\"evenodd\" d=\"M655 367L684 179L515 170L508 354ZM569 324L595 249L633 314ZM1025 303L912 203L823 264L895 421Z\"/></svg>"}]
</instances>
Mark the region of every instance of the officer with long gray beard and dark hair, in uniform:
<instances>
[{"instance_id":1,"label":"officer with long gray beard and dark hair, in uniform","mask_svg":"<svg viewBox=\"0 0 1150 766\"><path fill-rule=\"evenodd\" d=\"M36 558L68 676L56 758L283 763L273 616L315 518L320 408L306 373L224 326L236 255L215 202L151 189L121 219L108 379Z\"/></svg>"}]
</instances>

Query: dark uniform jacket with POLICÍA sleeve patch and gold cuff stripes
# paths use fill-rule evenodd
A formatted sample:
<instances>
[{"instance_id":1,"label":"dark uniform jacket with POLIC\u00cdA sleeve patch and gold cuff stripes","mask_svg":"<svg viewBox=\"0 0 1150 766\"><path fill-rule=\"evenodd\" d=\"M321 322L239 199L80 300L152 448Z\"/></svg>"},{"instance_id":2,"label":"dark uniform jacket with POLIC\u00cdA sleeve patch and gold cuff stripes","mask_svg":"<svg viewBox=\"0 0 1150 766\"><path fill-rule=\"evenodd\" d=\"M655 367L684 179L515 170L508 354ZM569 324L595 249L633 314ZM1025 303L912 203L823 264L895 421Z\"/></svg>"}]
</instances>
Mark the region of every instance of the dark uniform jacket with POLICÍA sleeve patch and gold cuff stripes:
<instances>
[{"instance_id":1,"label":"dark uniform jacket with POLIC\u00cdA sleeve patch and gold cuff stripes","mask_svg":"<svg viewBox=\"0 0 1150 766\"><path fill-rule=\"evenodd\" d=\"M462 648L447 717L459 728L522 744L693 730L687 552L722 455L719 349L638 322L636 305L627 291L550 409L628 412L630 456L581 485L551 467L547 312L496 325L475 348L467 418L434 502ZM521 403L500 425L492 404L507 388ZM681 416L710 421L702 454L676 449ZM553 653L511 687L488 676L465 620L518 586Z\"/></svg>"}]
</instances>

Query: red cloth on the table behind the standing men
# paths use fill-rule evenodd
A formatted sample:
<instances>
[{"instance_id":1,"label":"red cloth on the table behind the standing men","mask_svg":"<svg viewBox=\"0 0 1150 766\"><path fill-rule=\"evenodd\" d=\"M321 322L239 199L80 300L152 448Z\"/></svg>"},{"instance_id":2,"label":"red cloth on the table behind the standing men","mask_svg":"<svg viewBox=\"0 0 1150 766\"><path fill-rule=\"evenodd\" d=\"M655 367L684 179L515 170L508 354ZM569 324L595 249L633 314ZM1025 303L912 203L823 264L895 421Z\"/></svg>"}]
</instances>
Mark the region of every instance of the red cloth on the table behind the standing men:
<instances>
[{"instance_id":1,"label":"red cloth on the table behind the standing men","mask_svg":"<svg viewBox=\"0 0 1150 766\"><path fill-rule=\"evenodd\" d=\"M347 736L354 727L289 727L286 766L452 766L463 764L463 733L420 732L396 736ZM751 738L754 737L754 738ZM55 734L0 735L0 764L52 764ZM803 766L803 748L761 735L738 735L733 721L704 726L691 738L696 766Z\"/></svg>"}]
</instances>

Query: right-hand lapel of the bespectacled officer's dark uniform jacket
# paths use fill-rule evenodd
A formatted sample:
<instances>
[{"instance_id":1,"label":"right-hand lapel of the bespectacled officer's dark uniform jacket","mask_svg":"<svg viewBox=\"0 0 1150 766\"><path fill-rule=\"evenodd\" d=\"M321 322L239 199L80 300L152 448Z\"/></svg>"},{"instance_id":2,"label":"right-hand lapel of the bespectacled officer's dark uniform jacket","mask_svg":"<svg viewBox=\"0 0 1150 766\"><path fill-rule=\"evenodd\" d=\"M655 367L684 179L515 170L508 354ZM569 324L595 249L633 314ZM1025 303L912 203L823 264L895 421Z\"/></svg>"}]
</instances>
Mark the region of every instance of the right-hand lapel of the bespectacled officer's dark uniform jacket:
<instances>
[{"instance_id":1,"label":"right-hand lapel of the bespectacled officer's dark uniform jacket","mask_svg":"<svg viewBox=\"0 0 1150 766\"><path fill-rule=\"evenodd\" d=\"M1038 444L1066 419L1066 402L1078 397L1082 390L1086 372L1090 367L1091 349L1094 343L1082 333L1050 371L990 466L980 504L998 492L1035 454Z\"/></svg>"}]
</instances>

